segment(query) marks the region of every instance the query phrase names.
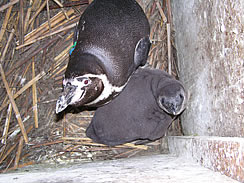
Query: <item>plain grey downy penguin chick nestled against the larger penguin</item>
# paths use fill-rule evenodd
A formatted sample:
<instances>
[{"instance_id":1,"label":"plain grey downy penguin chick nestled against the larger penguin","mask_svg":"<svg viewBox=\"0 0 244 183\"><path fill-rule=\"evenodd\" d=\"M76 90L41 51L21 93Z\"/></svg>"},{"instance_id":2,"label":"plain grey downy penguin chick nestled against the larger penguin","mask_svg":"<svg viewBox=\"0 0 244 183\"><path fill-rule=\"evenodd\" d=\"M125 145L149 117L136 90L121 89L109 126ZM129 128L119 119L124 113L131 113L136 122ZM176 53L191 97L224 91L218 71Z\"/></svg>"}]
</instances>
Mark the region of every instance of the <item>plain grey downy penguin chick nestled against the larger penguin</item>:
<instances>
[{"instance_id":1,"label":"plain grey downy penguin chick nestled against the larger penguin","mask_svg":"<svg viewBox=\"0 0 244 183\"><path fill-rule=\"evenodd\" d=\"M86 135L109 146L154 141L185 109L186 98L183 85L166 72L139 68L118 97L96 110Z\"/></svg>"}]
</instances>

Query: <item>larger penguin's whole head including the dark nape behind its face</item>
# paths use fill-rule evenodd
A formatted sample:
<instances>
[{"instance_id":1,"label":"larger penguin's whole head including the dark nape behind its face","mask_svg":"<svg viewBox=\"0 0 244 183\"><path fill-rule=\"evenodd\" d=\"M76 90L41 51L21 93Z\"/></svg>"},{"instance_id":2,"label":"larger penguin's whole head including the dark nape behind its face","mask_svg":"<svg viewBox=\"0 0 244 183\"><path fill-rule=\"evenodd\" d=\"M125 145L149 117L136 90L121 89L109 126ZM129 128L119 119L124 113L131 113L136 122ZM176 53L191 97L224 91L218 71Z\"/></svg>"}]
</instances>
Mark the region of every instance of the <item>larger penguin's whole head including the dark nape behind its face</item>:
<instances>
[{"instance_id":1,"label":"larger penguin's whole head including the dark nape behind its face","mask_svg":"<svg viewBox=\"0 0 244 183\"><path fill-rule=\"evenodd\" d=\"M69 105L78 107L94 101L104 89L102 75L104 69L99 65L98 58L91 54L81 54L75 48L65 71L63 92L57 100L56 113L62 112Z\"/></svg>"}]
</instances>

